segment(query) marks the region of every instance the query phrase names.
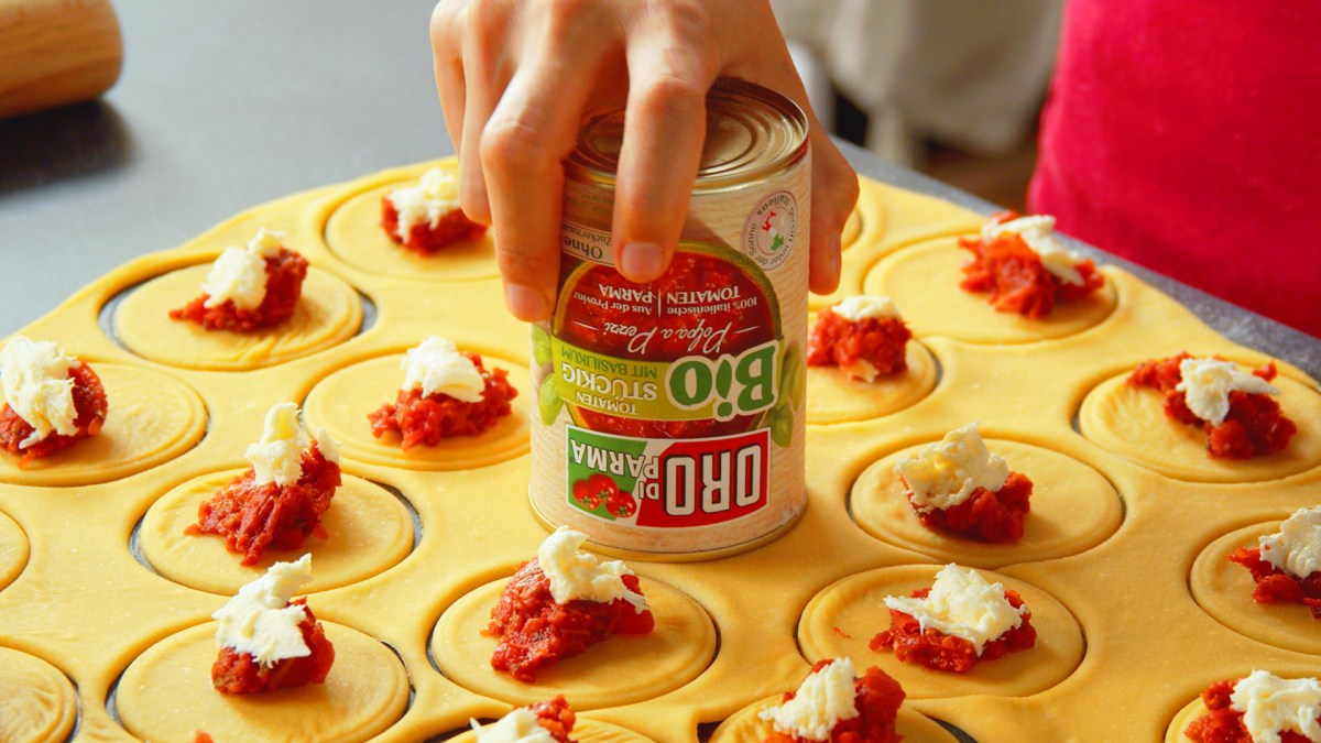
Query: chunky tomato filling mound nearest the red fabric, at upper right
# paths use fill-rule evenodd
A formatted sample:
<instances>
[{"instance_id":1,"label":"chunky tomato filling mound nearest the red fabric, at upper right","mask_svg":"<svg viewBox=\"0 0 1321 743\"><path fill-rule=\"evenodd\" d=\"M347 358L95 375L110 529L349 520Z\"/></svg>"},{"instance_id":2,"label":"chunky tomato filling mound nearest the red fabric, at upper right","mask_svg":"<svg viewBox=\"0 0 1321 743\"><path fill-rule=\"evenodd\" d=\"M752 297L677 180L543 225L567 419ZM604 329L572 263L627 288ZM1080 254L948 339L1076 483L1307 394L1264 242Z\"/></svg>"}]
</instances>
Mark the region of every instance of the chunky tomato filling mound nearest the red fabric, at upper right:
<instances>
[{"instance_id":1,"label":"chunky tomato filling mound nearest the red fabric, at upper right","mask_svg":"<svg viewBox=\"0 0 1321 743\"><path fill-rule=\"evenodd\" d=\"M1001 212L992 217L996 223L1017 218L1015 212ZM972 260L963 266L959 287L976 293L991 292L989 301L997 312L1045 317L1055 303L1085 297L1106 283L1095 263L1085 258L1074 266L1083 283L1066 284L1048 271L1037 251L1016 234L1004 234L991 242L980 237L960 238L959 247L972 253Z\"/></svg>"}]
</instances>

